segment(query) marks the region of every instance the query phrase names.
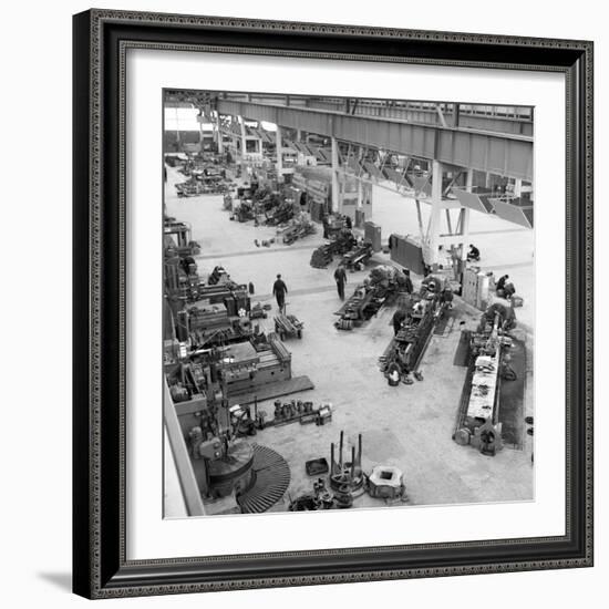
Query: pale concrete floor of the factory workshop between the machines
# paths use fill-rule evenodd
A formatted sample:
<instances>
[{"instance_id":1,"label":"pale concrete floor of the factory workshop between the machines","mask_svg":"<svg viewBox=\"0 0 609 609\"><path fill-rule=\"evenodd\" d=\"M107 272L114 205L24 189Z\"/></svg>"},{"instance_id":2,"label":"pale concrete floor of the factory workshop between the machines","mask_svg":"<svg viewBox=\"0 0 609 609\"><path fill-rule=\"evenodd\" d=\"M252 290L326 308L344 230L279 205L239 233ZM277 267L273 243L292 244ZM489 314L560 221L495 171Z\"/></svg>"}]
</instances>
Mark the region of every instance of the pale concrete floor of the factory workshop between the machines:
<instances>
[{"instance_id":1,"label":"pale concrete floor of the factory workshop between the machines","mask_svg":"<svg viewBox=\"0 0 609 609\"><path fill-rule=\"evenodd\" d=\"M252 303L272 304L269 319L256 322L272 331L277 307L270 292L280 272L289 290L287 311L304 322L302 340L287 340L286 345L292 353L292 374L307 374L316 388L283 400L295 398L314 404L329 401L333 406L332 421L324 426L292 423L270 427L252 438L286 458L291 468L289 495L292 498L312 491L314 478L307 476L304 462L322 456L329 461L330 443L338 442L341 430L348 438L349 451L358 434L363 435L364 471L382 464L404 472L410 505L534 498L529 436L523 433L519 448L506 446L495 457L485 457L451 438L466 372L466 368L453 363L461 336L460 322L465 321L465 328L474 329L479 311L457 298L453 319L443 334L432 338L424 355L421 365L424 380L410 386L391 388L379 371L378 359L393 334L394 308L381 309L378 317L351 332L334 329L333 313L341 306L332 278L337 261L328 269L309 266L311 251L322 242L321 227L317 235L292 246L256 247L255 239L275 237L275 228L230 221L229 214L223 209L221 196L178 198L174 184L183 182L184 176L172 168L167 168L167 213L192 224L193 239L202 246L202 255L196 257L199 273L205 276L216 265L223 265L237 282L254 282ZM382 226L385 241L392 231L417 231L414 203L383 188L374 187L372 219ZM495 270L497 276L508 272L517 292L525 298L525 308L517 310L519 321L524 321L518 329L519 337L526 342L529 355L524 419L533 414L533 334L529 330L534 310L533 233L472 213L473 233L500 229L509 231L473 235L471 240L482 251L481 265ZM386 264L389 257L376 255L374 262ZM348 276L347 296L369 270ZM414 277L415 288L420 280ZM261 403L260 407L272 417L272 401ZM355 506L382 505L368 495L355 502ZM287 503L277 507L286 509ZM172 515L171 510L166 514Z\"/></svg>"}]
</instances>

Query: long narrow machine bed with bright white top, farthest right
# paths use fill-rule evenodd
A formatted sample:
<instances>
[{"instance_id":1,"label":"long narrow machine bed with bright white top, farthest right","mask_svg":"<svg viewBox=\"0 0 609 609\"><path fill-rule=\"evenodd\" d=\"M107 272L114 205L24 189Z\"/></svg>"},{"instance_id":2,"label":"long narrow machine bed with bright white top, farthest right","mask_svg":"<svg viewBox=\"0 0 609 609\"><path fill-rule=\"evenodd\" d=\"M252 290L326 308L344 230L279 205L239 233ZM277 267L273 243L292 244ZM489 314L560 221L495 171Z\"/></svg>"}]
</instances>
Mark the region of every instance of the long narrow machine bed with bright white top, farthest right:
<instances>
[{"instance_id":1,"label":"long narrow machine bed with bright white top, farthest right","mask_svg":"<svg viewBox=\"0 0 609 609\"><path fill-rule=\"evenodd\" d=\"M508 331L515 327L513 311L492 304L481 317L477 332L469 337L469 367L458 409L453 440L471 444L481 453L495 455L503 448L498 421L500 385L506 351L513 345Z\"/></svg>"}]
</instances>

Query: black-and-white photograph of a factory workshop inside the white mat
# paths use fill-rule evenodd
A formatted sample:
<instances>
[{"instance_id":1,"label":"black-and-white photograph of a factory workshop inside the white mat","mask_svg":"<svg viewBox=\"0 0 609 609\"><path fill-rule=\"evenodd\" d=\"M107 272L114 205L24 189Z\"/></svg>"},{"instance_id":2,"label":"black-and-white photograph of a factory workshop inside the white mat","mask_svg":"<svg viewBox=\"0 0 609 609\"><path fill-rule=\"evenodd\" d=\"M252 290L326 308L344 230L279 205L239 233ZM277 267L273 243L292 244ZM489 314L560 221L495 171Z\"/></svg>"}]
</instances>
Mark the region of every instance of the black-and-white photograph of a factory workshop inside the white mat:
<instances>
[{"instance_id":1,"label":"black-and-white photograph of a factory workshop inside the white mat","mask_svg":"<svg viewBox=\"0 0 609 609\"><path fill-rule=\"evenodd\" d=\"M534 110L164 91L164 516L531 500Z\"/></svg>"}]
</instances>

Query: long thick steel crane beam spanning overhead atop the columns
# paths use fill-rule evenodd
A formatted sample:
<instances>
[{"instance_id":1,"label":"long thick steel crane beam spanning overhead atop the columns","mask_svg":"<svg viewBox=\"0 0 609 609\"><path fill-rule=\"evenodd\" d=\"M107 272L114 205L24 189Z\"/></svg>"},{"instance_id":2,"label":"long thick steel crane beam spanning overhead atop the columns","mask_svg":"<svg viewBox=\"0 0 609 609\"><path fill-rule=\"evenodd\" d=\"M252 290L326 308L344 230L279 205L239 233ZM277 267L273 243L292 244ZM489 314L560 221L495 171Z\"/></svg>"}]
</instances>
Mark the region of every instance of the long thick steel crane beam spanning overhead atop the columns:
<instances>
[{"instance_id":1,"label":"long thick steel crane beam spanning overhead atop the columns","mask_svg":"<svg viewBox=\"0 0 609 609\"><path fill-rule=\"evenodd\" d=\"M216 104L221 114L533 182L533 138L528 136L246 101L218 99Z\"/></svg>"}]
</instances>

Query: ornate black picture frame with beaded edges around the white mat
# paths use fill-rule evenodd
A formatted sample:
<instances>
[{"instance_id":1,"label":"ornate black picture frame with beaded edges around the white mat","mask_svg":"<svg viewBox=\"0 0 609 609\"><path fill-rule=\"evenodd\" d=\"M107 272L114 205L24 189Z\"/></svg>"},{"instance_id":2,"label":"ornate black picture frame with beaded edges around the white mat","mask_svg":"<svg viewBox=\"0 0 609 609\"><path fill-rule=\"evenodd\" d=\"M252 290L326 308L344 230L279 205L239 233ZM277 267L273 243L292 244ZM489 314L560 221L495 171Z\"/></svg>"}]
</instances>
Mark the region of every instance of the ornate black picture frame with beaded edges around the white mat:
<instances>
[{"instance_id":1,"label":"ornate black picture frame with beaded edges around the white mat","mask_svg":"<svg viewBox=\"0 0 609 609\"><path fill-rule=\"evenodd\" d=\"M565 536L214 559L126 559L127 48L565 74L568 379ZM591 42L91 10L74 17L73 49L74 592L89 598L112 598L592 565Z\"/></svg>"}]
</instances>

